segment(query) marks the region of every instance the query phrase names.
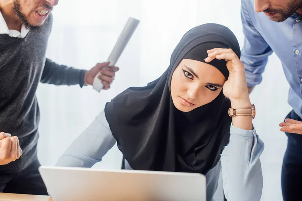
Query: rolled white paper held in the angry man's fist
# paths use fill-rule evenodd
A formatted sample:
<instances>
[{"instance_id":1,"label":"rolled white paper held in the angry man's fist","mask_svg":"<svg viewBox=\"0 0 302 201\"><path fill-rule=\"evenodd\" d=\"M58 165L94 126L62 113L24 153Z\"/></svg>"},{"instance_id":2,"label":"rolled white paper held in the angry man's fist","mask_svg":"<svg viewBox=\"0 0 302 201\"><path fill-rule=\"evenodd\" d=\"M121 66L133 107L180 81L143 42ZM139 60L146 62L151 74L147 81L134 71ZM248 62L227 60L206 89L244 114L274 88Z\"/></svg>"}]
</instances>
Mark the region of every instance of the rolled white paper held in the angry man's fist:
<instances>
[{"instance_id":1,"label":"rolled white paper held in the angry man's fist","mask_svg":"<svg viewBox=\"0 0 302 201\"><path fill-rule=\"evenodd\" d=\"M113 50L111 51L109 58L107 61L110 61L110 66L114 66L117 62L117 60L119 59L119 57L121 56L123 50L125 49L127 43L129 42L132 34L134 33L136 27L139 24L139 20L135 19L135 18L129 18L122 33L120 34ZM93 80L93 88L100 92L103 88L103 84L101 83L101 80L98 78L98 76L101 73L98 73L94 80Z\"/></svg>"}]
</instances>

